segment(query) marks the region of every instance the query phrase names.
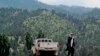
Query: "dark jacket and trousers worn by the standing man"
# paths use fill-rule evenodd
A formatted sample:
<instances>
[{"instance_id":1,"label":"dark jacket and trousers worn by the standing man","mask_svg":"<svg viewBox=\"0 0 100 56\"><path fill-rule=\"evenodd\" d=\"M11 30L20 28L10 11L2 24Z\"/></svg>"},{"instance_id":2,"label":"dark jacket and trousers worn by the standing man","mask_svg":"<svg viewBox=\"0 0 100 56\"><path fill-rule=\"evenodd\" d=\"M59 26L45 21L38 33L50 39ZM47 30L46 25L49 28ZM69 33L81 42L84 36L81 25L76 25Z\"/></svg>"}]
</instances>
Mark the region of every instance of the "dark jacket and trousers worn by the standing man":
<instances>
[{"instance_id":1,"label":"dark jacket and trousers worn by the standing man","mask_svg":"<svg viewBox=\"0 0 100 56\"><path fill-rule=\"evenodd\" d=\"M73 56L74 55L74 47L75 47L75 42L74 42L74 39L73 39L73 43L72 43L72 46L71 46L71 40L72 40L72 37L68 37L68 42L67 42L67 51L68 51L68 56L71 55Z\"/></svg>"}]
</instances>

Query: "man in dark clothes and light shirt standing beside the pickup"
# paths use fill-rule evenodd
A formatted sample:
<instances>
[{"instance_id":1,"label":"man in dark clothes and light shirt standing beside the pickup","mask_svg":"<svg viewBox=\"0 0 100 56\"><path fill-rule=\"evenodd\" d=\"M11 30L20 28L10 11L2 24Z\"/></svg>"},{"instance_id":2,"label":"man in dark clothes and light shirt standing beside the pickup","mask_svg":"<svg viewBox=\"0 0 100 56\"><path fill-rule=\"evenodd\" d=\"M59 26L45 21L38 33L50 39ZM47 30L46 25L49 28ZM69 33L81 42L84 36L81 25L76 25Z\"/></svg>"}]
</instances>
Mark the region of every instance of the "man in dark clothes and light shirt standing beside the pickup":
<instances>
[{"instance_id":1,"label":"man in dark clothes and light shirt standing beside the pickup","mask_svg":"<svg viewBox=\"0 0 100 56\"><path fill-rule=\"evenodd\" d=\"M67 56L74 56L74 51L75 51L75 42L74 42L74 34L70 33L67 39L67 51L68 55Z\"/></svg>"}]
</instances>

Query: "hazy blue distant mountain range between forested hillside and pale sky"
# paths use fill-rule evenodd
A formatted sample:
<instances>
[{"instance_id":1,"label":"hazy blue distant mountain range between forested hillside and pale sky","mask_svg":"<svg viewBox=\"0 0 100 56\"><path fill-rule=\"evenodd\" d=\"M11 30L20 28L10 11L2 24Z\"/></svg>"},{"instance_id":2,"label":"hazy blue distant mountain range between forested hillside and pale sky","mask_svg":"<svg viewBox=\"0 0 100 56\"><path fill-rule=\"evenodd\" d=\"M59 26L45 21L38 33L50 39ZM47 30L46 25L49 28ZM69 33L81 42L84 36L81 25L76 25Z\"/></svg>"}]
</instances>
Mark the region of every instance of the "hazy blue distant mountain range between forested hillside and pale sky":
<instances>
[{"instance_id":1,"label":"hazy blue distant mountain range between forested hillside and pale sky","mask_svg":"<svg viewBox=\"0 0 100 56\"><path fill-rule=\"evenodd\" d=\"M64 5L47 5L37 0L0 0L0 7L13 7L13 8L22 8L22 9L49 9L56 10L59 12L70 12L72 14L84 14L92 10L92 8L84 8L78 6L64 6Z\"/></svg>"}]
</instances>

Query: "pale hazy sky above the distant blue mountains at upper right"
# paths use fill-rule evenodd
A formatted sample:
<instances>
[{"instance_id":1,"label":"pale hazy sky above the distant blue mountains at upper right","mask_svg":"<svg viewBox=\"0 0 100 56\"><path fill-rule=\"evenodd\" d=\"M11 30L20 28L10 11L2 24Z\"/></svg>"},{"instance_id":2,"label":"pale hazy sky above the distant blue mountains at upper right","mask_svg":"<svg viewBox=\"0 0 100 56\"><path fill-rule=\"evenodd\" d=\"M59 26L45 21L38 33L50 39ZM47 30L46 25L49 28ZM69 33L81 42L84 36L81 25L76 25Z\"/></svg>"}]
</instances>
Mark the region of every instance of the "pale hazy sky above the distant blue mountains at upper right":
<instances>
[{"instance_id":1,"label":"pale hazy sky above the distant blue mountains at upper right","mask_svg":"<svg viewBox=\"0 0 100 56\"><path fill-rule=\"evenodd\" d=\"M99 7L100 0L38 0L40 2L50 5L69 5L69 6L85 6L85 7Z\"/></svg>"}]
</instances>

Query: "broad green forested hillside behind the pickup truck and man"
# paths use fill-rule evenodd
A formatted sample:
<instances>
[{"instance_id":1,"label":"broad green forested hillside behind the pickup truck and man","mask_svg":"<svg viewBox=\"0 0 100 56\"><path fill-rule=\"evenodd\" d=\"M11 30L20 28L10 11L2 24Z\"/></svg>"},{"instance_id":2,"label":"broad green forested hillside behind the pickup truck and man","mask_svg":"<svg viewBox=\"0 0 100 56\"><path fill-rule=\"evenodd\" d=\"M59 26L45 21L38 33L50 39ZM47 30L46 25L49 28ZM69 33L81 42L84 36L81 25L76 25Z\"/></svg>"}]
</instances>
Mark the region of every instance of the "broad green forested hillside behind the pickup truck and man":
<instances>
[{"instance_id":1,"label":"broad green forested hillside behind the pickup truck and man","mask_svg":"<svg viewBox=\"0 0 100 56\"><path fill-rule=\"evenodd\" d=\"M60 50L62 55L64 55L66 38L70 32L73 32L77 42L76 56L100 56L99 9L76 16L47 9L28 11L0 8L0 33L13 36L9 37L9 39L12 38L10 43L14 50L10 56L27 56L26 47L23 44L24 35L30 32L35 38L39 31L42 31L45 37L60 42L63 47Z\"/></svg>"}]
</instances>

